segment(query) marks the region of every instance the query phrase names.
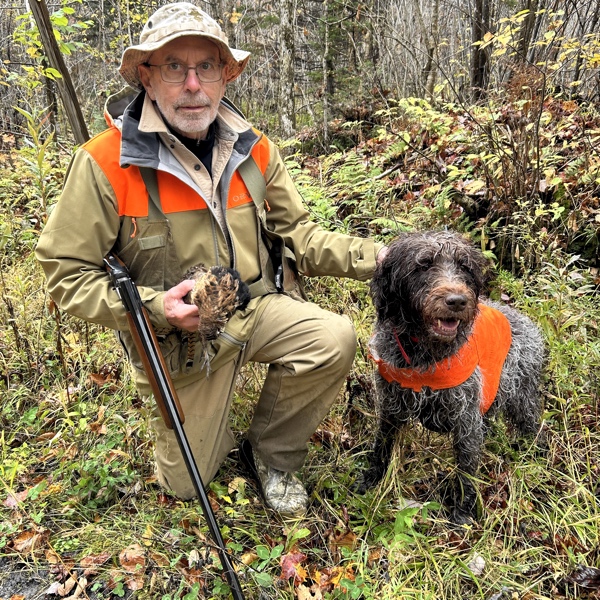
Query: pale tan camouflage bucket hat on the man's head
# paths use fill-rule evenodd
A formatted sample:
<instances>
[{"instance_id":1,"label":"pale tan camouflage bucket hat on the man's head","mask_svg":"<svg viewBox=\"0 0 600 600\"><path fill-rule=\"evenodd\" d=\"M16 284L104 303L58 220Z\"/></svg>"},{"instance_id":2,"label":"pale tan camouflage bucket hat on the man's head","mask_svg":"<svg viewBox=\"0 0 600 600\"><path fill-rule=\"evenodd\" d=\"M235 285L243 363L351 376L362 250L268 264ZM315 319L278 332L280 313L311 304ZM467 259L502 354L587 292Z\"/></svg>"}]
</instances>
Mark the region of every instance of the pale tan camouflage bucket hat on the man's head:
<instances>
[{"instance_id":1,"label":"pale tan camouflage bucket hat on the man's head","mask_svg":"<svg viewBox=\"0 0 600 600\"><path fill-rule=\"evenodd\" d=\"M189 2L174 2L159 8L149 19L140 35L140 43L123 52L119 73L134 88L141 89L138 66L168 42L185 35L198 35L214 42L221 59L229 67L227 81L233 81L246 68L250 52L229 47L221 26L203 10Z\"/></svg>"}]
</instances>

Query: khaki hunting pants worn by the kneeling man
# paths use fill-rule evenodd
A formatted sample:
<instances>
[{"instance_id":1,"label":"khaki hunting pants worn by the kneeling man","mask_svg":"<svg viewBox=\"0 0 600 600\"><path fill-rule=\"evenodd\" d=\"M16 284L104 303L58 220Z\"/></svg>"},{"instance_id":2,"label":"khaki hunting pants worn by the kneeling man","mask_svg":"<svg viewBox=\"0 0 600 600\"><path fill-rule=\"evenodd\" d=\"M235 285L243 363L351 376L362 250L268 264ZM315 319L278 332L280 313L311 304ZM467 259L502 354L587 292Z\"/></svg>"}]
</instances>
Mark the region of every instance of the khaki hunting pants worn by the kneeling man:
<instances>
[{"instance_id":1,"label":"khaki hunting pants worn by the kneeling man","mask_svg":"<svg viewBox=\"0 0 600 600\"><path fill-rule=\"evenodd\" d=\"M296 471L354 360L356 335L347 317L284 295L261 302L266 305L257 311L260 317L244 350L207 378L178 390L184 429L205 485L236 445L228 413L242 365L269 364L247 433L254 452L271 467ZM195 496L177 439L158 411L153 425L159 482L182 499Z\"/></svg>"}]
</instances>

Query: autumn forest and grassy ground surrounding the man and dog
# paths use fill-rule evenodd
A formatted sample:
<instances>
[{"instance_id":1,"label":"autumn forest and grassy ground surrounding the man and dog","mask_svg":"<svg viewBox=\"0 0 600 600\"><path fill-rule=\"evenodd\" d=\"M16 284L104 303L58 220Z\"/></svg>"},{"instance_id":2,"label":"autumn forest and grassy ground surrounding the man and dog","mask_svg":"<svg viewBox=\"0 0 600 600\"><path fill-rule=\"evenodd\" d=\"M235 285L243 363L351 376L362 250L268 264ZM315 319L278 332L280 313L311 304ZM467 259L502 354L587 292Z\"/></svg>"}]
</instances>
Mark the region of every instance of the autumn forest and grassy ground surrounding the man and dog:
<instances>
[{"instance_id":1,"label":"autumn forest and grassy ground surrounding the man and dog","mask_svg":"<svg viewBox=\"0 0 600 600\"><path fill-rule=\"evenodd\" d=\"M382 241L464 233L494 265L490 294L548 348L548 448L496 424L478 519L457 530L440 505L448 441L418 427L385 481L353 492L374 425L372 306L365 284L309 281L353 319L359 350L311 443L305 519L266 511L234 457L210 486L244 593L600 597L600 2L195 3L252 52L228 96L280 143L313 218ZM105 127L122 51L161 4L48 2L75 124L28 2L0 0L0 598L228 594L198 505L156 486L150 409L112 332L57 310L32 253L76 144ZM263 375L240 376L240 436Z\"/></svg>"}]
</instances>

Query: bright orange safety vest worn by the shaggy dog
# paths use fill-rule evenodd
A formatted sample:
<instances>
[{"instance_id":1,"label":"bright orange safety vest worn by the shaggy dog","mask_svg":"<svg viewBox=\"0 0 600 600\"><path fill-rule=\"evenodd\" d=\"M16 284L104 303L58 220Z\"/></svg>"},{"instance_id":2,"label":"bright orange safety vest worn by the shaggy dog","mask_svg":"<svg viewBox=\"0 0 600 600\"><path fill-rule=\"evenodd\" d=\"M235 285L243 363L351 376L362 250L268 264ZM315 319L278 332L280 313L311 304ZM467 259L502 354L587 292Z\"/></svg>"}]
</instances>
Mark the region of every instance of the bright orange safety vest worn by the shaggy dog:
<instances>
[{"instance_id":1,"label":"bright orange safety vest worn by the shaggy dog","mask_svg":"<svg viewBox=\"0 0 600 600\"><path fill-rule=\"evenodd\" d=\"M413 368L400 369L384 362L372 354L379 373L388 382L396 382L401 387L420 392L423 386L432 390L445 390L464 383L479 366L483 379L479 410L485 414L498 393L500 375L508 350L512 343L512 333L508 319L499 310L479 305L479 313L473 323L473 330L459 351L445 358L427 371Z\"/></svg>"}]
</instances>

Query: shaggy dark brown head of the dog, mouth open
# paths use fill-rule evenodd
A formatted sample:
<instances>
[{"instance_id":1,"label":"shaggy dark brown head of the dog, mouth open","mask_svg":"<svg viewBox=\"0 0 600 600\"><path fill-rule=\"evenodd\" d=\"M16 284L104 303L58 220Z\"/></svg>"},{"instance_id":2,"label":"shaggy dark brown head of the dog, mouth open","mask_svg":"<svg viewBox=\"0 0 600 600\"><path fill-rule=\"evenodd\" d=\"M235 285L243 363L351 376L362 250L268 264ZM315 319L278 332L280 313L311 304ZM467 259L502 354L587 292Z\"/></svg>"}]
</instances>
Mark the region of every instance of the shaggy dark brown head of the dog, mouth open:
<instances>
[{"instance_id":1,"label":"shaggy dark brown head of the dog, mouth open","mask_svg":"<svg viewBox=\"0 0 600 600\"><path fill-rule=\"evenodd\" d=\"M457 234L402 234L371 280L377 318L421 339L452 342L475 318L486 265Z\"/></svg>"}]
</instances>

